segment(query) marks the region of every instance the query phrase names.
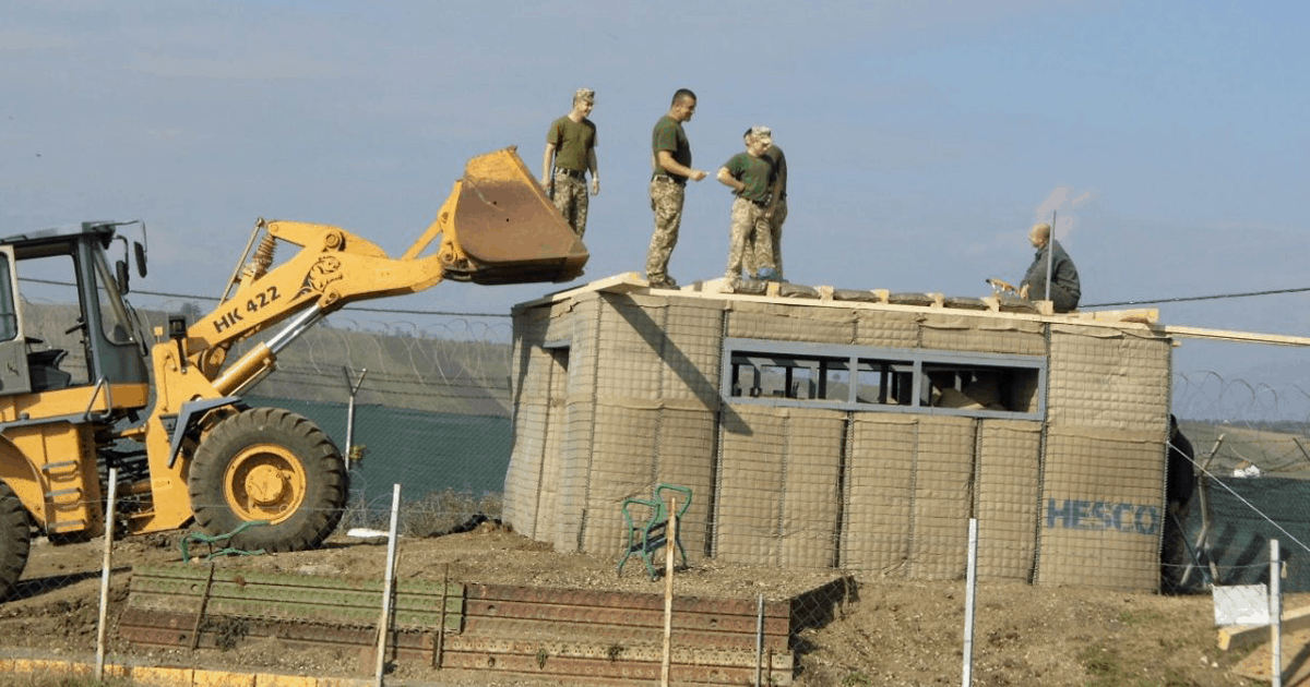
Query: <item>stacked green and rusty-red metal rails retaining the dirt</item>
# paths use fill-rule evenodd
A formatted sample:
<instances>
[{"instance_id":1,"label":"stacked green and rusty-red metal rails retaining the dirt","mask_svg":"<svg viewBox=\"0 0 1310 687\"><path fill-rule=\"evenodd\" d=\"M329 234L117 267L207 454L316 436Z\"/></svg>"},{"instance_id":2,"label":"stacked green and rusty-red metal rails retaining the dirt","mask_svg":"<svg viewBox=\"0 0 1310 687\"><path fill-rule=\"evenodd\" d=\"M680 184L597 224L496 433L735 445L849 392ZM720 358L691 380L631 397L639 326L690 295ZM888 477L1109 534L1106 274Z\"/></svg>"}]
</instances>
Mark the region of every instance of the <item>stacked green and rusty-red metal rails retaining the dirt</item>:
<instances>
[{"instance_id":1,"label":"stacked green and rusty-red metal rails retaining the dirt","mask_svg":"<svg viewBox=\"0 0 1310 687\"><path fill-rule=\"evenodd\" d=\"M379 580L208 574L194 565L136 568L119 632L135 644L202 649L263 637L360 656L376 645ZM760 656L756 599L676 597L671 674L679 683L749 684L758 656L768 684L790 684L794 601L764 605ZM648 684L660 677L663 603L656 593L401 581L388 650L396 661L504 678Z\"/></svg>"}]
</instances>

